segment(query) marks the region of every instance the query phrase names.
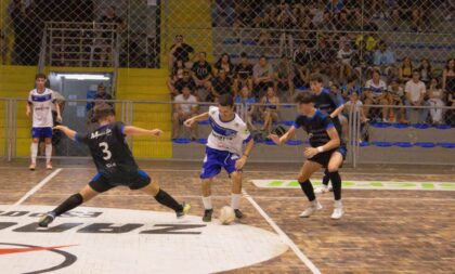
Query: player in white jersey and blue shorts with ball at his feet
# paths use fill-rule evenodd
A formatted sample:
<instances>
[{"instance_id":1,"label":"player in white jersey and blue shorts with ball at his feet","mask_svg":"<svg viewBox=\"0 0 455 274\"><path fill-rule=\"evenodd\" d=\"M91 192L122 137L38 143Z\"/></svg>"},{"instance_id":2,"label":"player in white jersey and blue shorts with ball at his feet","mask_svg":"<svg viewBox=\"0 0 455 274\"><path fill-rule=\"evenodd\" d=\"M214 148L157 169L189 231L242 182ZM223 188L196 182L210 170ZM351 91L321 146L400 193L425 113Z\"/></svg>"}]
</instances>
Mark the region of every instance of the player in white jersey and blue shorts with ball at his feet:
<instances>
[{"instance_id":1,"label":"player in white jersey and blue shorts with ball at his feet","mask_svg":"<svg viewBox=\"0 0 455 274\"><path fill-rule=\"evenodd\" d=\"M230 174L232 180L231 207L235 217L243 218L238 209L242 193L242 168L245 166L255 141L247 125L234 112L234 100L230 94L223 94L218 100L218 106L211 106L207 113L185 120L191 127L194 122L209 120L211 133L207 140L206 156L204 158L200 179L203 181L203 221L210 222L213 213L211 205L211 184L221 168ZM243 144L246 144L242 153ZM242 156L240 156L242 155Z\"/></svg>"}]
</instances>

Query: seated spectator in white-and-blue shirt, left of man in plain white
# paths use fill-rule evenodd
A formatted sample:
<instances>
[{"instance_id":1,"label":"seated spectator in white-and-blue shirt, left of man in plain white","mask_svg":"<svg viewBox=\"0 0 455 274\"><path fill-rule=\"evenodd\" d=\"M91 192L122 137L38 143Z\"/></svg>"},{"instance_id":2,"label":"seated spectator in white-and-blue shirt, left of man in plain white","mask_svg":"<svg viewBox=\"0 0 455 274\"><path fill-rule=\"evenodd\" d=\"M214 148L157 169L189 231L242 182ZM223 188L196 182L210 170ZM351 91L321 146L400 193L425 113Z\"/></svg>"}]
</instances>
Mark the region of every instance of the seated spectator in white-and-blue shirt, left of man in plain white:
<instances>
[{"instance_id":1,"label":"seated spectator in white-and-blue shirt, left of man in plain white","mask_svg":"<svg viewBox=\"0 0 455 274\"><path fill-rule=\"evenodd\" d=\"M380 79L378 70L373 71L373 78L365 83L365 105L382 105L382 121L387 120L389 104L387 100L387 84ZM369 116L369 106L365 106L365 114Z\"/></svg>"}]
</instances>

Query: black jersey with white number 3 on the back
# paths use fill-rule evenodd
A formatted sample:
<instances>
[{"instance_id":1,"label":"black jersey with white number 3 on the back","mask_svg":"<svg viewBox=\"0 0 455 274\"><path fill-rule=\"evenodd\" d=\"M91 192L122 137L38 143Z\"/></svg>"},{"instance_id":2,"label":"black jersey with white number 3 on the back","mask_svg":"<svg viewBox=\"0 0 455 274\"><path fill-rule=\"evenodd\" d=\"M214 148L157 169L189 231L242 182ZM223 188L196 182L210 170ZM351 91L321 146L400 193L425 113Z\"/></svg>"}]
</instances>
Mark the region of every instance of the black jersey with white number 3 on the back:
<instances>
[{"instance_id":1,"label":"black jersey with white number 3 on the back","mask_svg":"<svg viewBox=\"0 0 455 274\"><path fill-rule=\"evenodd\" d=\"M76 141L89 146L98 172L108 180L138 174L139 167L125 140L123 129L125 125L117 121L75 136Z\"/></svg>"}]
</instances>

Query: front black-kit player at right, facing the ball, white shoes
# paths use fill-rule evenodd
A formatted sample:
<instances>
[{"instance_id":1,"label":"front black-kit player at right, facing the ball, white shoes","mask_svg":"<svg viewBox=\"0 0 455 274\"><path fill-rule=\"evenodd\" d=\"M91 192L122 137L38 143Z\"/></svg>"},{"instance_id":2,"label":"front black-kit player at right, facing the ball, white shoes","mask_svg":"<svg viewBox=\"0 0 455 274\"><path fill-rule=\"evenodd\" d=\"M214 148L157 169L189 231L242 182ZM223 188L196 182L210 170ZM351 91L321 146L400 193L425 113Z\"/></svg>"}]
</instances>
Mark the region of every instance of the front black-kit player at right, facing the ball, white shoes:
<instances>
[{"instance_id":1,"label":"front black-kit player at right, facing the ball, white shoes","mask_svg":"<svg viewBox=\"0 0 455 274\"><path fill-rule=\"evenodd\" d=\"M310 206L300 217L310 217L314 211L322 209L314 195L310 178L318 169L326 168L334 187L335 197L332 219L340 219L344 213L341 204L341 178L338 173L338 169L343 161L343 156L340 152L340 138L332 118L314 107L313 94L301 92L297 94L295 102L298 104L300 115L297 116L294 126L281 138L276 134L271 134L270 138L276 144L283 144L291 139L300 127L309 134L311 147L304 151L307 161L299 172L298 182L310 200Z\"/></svg>"}]
</instances>

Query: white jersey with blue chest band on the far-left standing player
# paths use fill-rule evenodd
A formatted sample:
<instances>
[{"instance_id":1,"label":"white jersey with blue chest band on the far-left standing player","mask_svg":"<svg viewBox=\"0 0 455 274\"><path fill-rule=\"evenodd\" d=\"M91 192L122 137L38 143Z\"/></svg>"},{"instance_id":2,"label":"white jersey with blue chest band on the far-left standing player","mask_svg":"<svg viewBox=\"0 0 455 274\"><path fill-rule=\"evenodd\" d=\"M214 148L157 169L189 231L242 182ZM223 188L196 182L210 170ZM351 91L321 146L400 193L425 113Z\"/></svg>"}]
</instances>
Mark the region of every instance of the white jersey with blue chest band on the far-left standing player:
<instances>
[{"instance_id":1,"label":"white jersey with blue chest band on the far-left standing player","mask_svg":"<svg viewBox=\"0 0 455 274\"><path fill-rule=\"evenodd\" d=\"M28 94L28 103L34 112L34 128L52 128L54 126L52 105L55 103L55 94L51 89L46 89L42 93L39 93L37 89L31 90Z\"/></svg>"}]
</instances>

